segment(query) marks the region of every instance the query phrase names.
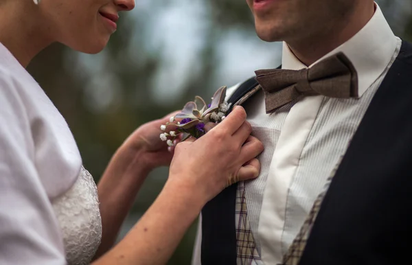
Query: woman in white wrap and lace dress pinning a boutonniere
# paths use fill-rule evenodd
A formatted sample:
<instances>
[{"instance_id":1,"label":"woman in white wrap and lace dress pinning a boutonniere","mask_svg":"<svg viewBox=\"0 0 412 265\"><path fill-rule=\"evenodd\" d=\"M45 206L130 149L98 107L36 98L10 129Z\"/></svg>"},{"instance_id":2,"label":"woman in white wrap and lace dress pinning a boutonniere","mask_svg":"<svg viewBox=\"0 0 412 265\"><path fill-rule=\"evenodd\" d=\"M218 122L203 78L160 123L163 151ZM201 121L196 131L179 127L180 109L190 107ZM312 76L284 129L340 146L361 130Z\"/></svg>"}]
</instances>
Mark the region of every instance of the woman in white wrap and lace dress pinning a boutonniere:
<instances>
[{"instance_id":1,"label":"woman in white wrap and lace dress pinning a boutonniere","mask_svg":"<svg viewBox=\"0 0 412 265\"><path fill-rule=\"evenodd\" d=\"M96 187L65 119L25 67L54 42L101 51L135 3L37 1L0 0L0 264L165 264L208 200L258 176L262 143L237 107L201 139L168 150L159 134L170 114L137 128ZM113 246L160 165L170 165L161 194Z\"/></svg>"}]
</instances>

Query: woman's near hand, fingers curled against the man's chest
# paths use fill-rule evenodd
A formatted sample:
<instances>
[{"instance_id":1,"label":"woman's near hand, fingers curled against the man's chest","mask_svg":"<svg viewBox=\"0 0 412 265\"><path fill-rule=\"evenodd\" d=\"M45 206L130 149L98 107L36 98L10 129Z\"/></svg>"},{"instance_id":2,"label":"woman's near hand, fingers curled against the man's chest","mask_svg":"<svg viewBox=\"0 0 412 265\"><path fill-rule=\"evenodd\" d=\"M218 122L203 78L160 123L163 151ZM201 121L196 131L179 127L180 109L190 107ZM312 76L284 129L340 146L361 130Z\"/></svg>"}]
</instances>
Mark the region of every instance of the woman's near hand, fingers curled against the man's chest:
<instances>
[{"instance_id":1,"label":"woman's near hand, fingers curled against the man's chest","mask_svg":"<svg viewBox=\"0 0 412 265\"><path fill-rule=\"evenodd\" d=\"M201 203L207 203L225 187L257 177L260 163L255 157L263 145L250 135L251 130L239 106L200 139L178 143L168 183L192 189L192 194L201 196Z\"/></svg>"}]
</instances>

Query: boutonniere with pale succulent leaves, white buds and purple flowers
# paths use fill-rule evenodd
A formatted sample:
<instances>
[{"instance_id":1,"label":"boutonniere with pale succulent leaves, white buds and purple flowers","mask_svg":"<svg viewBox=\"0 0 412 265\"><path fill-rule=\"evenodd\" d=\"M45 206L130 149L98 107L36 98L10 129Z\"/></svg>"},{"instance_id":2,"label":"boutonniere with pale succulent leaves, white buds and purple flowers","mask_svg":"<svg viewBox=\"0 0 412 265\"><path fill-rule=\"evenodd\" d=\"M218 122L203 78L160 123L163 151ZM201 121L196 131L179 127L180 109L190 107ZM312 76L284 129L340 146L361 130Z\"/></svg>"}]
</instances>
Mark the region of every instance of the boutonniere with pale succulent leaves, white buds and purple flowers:
<instances>
[{"instance_id":1,"label":"boutonniere with pale succulent leaves, white buds and purple flowers","mask_svg":"<svg viewBox=\"0 0 412 265\"><path fill-rule=\"evenodd\" d=\"M161 130L164 132L168 126L173 126L176 129L169 133L162 133L160 139L166 141L168 146L174 146L174 139L182 134L181 141L185 141L190 136L199 138L205 135L205 124L222 122L229 111L231 104L225 101L226 89L226 87L220 87L211 98L210 104L206 104L205 100L199 96L196 96L194 101L187 102L181 113L170 117L170 122L161 126ZM181 119L181 121L176 122L176 119Z\"/></svg>"}]
</instances>

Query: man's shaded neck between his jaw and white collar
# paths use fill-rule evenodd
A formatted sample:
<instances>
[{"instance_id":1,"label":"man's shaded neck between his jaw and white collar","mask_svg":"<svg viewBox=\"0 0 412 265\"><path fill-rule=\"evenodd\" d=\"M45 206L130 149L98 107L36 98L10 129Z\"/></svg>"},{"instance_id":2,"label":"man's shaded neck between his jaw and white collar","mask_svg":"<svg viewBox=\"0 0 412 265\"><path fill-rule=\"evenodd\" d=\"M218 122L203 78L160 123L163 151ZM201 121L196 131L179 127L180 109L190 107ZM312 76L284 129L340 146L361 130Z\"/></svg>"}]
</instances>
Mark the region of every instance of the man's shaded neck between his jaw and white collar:
<instances>
[{"instance_id":1,"label":"man's shaded neck between his jaw and white collar","mask_svg":"<svg viewBox=\"0 0 412 265\"><path fill-rule=\"evenodd\" d=\"M366 1L365 1L366 2ZM331 21L328 27L322 28L308 38L286 41L293 54L306 66L312 65L330 51L347 42L365 27L374 16L375 5L361 2L345 19Z\"/></svg>"}]
</instances>

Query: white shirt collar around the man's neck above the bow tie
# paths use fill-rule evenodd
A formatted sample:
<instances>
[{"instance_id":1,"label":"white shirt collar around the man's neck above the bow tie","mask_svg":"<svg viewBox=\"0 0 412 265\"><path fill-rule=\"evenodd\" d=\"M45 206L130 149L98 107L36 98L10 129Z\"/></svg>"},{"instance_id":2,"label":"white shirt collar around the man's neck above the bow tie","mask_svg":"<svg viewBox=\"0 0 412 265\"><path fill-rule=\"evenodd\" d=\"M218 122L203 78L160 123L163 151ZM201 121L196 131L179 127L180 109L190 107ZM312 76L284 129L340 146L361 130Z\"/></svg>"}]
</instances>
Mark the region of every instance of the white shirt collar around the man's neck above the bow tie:
<instances>
[{"instance_id":1,"label":"white shirt collar around the man's neck above the bow tie","mask_svg":"<svg viewBox=\"0 0 412 265\"><path fill-rule=\"evenodd\" d=\"M382 10L376 4L374 16L361 31L343 45L314 62L309 68L324 58L343 52L358 72L358 94L361 97L391 62L397 42L398 38L393 34ZM299 70L304 68L308 67L299 61L290 51L288 45L284 43L282 69Z\"/></svg>"}]
</instances>

